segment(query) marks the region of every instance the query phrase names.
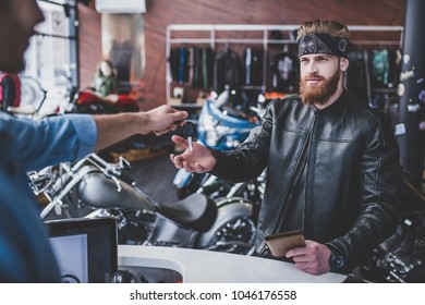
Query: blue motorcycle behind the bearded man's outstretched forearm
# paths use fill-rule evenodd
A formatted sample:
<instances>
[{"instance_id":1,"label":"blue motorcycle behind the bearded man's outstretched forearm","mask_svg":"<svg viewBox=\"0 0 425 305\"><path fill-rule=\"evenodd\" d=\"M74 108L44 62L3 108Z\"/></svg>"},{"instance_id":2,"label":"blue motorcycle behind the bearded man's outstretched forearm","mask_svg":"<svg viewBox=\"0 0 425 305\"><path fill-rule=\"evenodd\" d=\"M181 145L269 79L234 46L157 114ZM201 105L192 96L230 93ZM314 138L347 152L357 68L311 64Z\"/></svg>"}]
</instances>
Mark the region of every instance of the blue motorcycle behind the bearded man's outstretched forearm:
<instances>
[{"instance_id":1,"label":"blue motorcycle behind the bearded man's outstretched forearm","mask_svg":"<svg viewBox=\"0 0 425 305\"><path fill-rule=\"evenodd\" d=\"M253 100L255 105L252 105ZM246 91L238 94L227 88L219 96L212 94L201 109L197 142L219 150L235 149L246 139L251 130L260 125L264 102L264 96L258 91L251 93L250 96ZM184 169L179 170L173 180L179 198L195 192L202 192L212 198L230 193L252 202L260 202L257 191L258 187L264 188L264 183L265 173L257 180L234 185L208 173L189 173Z\"/></svg>"}]
</instances>

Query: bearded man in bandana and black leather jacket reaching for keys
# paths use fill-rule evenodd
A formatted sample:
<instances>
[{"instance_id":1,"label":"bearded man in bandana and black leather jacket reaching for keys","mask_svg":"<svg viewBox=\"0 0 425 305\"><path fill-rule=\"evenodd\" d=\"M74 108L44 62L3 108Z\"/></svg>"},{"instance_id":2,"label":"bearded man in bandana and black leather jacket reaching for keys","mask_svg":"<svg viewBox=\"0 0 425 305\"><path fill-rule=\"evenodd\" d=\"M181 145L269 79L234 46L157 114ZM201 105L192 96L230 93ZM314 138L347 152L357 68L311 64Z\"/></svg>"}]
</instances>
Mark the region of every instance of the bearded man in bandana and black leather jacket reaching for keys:
<instances>
[{"instance_id":1,"label":"bearded man in bandana and black leather jacket reaching for keys","mask_svg":"<svg viewBox=\"0 0 425 305\"><path fill-rule=\"evenodd\" d=\"M342 85L350 33L333 21L299 28L300 96L267 106L262 126L233 151L173 136L186 150L178 169L247 181L267 168L257 255L289 259L308 273L350 273L390 236L400 208L399 150L387 117ZM301 230L305 245L272 257L266 236Z\"/></svg>"}]
</instances>

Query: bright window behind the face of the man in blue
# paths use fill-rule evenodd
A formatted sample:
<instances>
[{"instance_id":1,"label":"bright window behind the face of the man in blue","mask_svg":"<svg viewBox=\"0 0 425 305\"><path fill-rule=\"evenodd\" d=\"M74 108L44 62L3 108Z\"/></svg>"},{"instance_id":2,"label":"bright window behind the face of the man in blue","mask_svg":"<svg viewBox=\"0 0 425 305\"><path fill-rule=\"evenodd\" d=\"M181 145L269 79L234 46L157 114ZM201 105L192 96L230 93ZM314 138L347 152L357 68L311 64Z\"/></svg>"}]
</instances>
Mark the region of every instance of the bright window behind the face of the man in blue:
<instances>
[{"instance_id":1,"label":"bright window behind the face of the man in blue","mask_svg":"<svg viewBox=\"0 0 425 305\"><path fill-rule=\"evenodd\" d=\"M33 36L25 53L22 103L33 102L37 108L45 90L40 112L49 113L63 110L69 89L78 84L77 4L76 0L39 0L38 4L46 20L37 26L38 35Z\"/></svg>"}]
</instances>

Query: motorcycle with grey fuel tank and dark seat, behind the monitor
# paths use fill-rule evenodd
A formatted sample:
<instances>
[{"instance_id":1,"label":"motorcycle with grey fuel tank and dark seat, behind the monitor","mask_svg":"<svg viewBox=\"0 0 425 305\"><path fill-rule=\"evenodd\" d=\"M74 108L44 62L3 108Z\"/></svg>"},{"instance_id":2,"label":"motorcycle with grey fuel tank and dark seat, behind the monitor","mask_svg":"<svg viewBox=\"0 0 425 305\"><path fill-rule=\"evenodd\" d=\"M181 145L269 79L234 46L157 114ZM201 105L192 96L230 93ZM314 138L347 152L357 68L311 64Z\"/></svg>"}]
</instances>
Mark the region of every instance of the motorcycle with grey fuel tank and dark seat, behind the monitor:
<instances>
[{"instance_id":1,"label":"motorcycle with grey fuel tank and dark seat, behind the monitor","mask_svg":"<svg viewBox=\"0 0 425 305\"><path fill-rule=\"evenodd\" d=\"M255 224L248 200L212 200L195 193L177 203L156 203L124 174L129 169L123 158L109 163L92 154L73 166L28 173L34 193L47 198L41 219L113 217L120 244L253 254Z\"/></svg>"}]
</instances>

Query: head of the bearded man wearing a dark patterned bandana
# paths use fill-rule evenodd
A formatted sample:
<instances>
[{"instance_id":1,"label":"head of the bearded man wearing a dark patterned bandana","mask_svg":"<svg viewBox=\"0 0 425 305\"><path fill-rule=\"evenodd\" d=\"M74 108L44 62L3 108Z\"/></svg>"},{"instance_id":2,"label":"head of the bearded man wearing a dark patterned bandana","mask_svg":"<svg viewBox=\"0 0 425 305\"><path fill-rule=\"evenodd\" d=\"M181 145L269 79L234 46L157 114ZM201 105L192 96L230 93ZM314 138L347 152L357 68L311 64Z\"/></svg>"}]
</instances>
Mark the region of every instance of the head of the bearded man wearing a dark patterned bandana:
<instances>
[{"instance_id":1,"label":"head of the bearded man wearing a dark patterned bandana","mask_svg":"<svg viewBox=\"0 0 425 305\"><path fill-rule=\"evenodd\" d=\"M304 103L325 106L342 91L349 66L350 32L335 21L306 22L299 28L300 95Z\"/></svg>"}]
</instances>

